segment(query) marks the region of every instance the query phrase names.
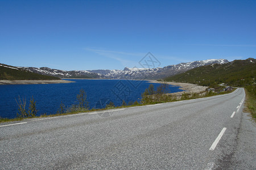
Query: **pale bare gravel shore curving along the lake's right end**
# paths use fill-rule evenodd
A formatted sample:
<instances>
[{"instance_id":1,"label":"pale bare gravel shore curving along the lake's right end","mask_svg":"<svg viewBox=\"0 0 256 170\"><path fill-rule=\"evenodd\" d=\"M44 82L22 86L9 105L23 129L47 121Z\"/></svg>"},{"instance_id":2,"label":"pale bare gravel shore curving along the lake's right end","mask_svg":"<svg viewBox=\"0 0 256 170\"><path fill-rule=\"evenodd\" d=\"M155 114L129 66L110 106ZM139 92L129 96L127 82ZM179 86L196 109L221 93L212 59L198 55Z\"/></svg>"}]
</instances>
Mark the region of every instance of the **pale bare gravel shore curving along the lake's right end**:
<instances>
[{"instance_id":1,"label":"pale bare gravel shore curving along the lake's right end","mask_svg":"<svg viewBox=\"0 0 256 170\"><path fill-rule=\"evenodd\" d=\"M173 86L179 86L181 90L184 90L188 93L199 93L201 91L205 91L207 86L198 86L196 84L191 83L176 83L176 82L158 82L156 80L149 80L149 83L167 83ZM184 92L175 92L172 94L183 94Z\"/></svg>"}]
</instances>

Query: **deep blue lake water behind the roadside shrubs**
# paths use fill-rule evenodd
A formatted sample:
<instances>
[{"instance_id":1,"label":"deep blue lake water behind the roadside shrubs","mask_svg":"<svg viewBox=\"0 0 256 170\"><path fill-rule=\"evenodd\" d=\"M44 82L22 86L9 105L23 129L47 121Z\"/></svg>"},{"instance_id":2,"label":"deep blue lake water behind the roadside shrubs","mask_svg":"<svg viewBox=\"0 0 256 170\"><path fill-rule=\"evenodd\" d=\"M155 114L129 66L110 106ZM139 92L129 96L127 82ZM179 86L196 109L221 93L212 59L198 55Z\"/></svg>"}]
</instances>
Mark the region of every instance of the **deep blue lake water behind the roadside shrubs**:
<instances>
[{"instance_id":1,"label":"deep blue lake water behind the roadside shrubs","mask_svg":"<svg viewBox=\"0 0 256 170\"><path fill-rule=\"evenodd\" d=\"M90 80L72 79L75 83L67 84L15 84L0 86L0 117L15 118L18 113L16 100L18 96L27 100L33 96L40 114L55 114L61 102L63 104L75 104L76 96L84 89L90 108L105 107L110 101L114 105L122 105L122 100L140 101L141 94L150 85L141 80ZM154 83L157 88L160 84ZM170 92L182 91L177 86L170 86Z\"/></svg>"}]
</instances>

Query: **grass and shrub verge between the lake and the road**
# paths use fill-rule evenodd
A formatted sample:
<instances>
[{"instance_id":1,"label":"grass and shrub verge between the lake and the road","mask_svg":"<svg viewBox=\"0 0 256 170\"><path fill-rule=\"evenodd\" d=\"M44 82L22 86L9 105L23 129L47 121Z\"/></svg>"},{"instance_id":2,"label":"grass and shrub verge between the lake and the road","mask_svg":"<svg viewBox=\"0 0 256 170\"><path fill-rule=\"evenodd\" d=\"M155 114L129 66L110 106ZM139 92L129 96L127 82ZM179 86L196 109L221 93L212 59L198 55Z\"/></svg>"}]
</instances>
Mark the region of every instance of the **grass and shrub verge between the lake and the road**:
<instances>
[{"instance_id":1,"label":"grass and shrub verge between the lake and the road","mask_svg":"<svg viewBox=\"0 0 256 170\"><path fill-rule=\"evenodd\" d=\"M65 115L69 115L69 114L79 114L79 113L86 113L86 112L98 112L98 111L108 111L111 109L118 109L118 108L130 108L130 107L138 107L138 106L143 106L143 105L151 105L151 104L158 104L158 103L168 103L168 102L174 102L174 101L181 101L181 100L191 100L191 99L198 99L198 98L203 98L203 97L210 97L210 96L216 96L216 95L224 95L224 94L229 94L231 92L233 92L234 90L236 90L236 88L234 88L232 91L225 91L225 92L200 92L200 93L187 93L184 92L181 95L180 99L177 99L177 96L175 95L171 95L171 94L153 94L153 95L148 95L146 100L143 99L142 96L142 101L139 103L138 101L135 101L133 104L131 104L129 102L128 105L123 104L121 106L115 107L115 106L111 106L109 107L109 105L106 106L106 108L102 108L102 109L72 109L71 107L67 107L65 108L65 106L61 106L60 105L60 109L56 114L47 114L44 113L40 116L34 116L34 117L27 117L27 118L1 118L0 117L0 123L3 122L13 122L13 121L22 121L22 120L26 120L26 119L30 119L30 118L43 118L43 117L56 117L56 116L65 116ZM255 108L255 107L254 107Z\"/></svg>"}]
</instances>

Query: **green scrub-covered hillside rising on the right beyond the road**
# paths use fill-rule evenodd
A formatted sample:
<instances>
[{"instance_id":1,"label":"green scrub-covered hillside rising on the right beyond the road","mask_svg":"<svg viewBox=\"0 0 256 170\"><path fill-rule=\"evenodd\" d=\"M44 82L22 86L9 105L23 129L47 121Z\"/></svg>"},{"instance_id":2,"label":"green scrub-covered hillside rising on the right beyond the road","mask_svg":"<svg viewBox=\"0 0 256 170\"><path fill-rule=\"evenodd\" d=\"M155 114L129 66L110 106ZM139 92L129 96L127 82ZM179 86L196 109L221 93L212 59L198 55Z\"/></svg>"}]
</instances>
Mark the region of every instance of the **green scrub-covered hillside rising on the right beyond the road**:
<instances>
[{"instance_id":1,"label":"green scrub-covered hillside rising on the right beyond the road","mask_svg":"<svg viewBox=\"0 0 256 170\"><path fill-rule=\"evenodd\" d=\"M216 63L201 66L181 74L165 78L166 81L214 86L226 83L229 86L245 87L255 84L256 59L234 60L222 65Z\"/></svg>"}]
</instances>

